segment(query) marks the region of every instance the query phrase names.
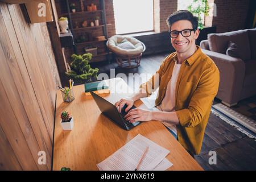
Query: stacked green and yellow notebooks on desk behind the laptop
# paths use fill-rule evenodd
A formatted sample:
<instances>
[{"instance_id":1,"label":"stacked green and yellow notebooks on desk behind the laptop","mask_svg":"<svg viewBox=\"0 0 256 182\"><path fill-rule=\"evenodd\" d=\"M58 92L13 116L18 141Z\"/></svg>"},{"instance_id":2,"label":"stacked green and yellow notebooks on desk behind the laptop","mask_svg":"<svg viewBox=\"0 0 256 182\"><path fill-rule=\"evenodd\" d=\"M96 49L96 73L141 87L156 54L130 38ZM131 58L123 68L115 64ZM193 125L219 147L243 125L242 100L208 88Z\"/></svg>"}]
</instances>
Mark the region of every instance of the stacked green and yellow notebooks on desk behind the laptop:
<instances>
[{"instance_id":1,"label":"stacked green and yellow notebooks on desk behind the laptop","mask_svg":"<svg viewBox=\"0 0 256 182\"><path fill-rule=\"evenodd\" d=\"M90 96L90 91L96 94L110 93L109 86L106 81L95 81L84 84L85 95Z\"/></svg>"}]
</instances>

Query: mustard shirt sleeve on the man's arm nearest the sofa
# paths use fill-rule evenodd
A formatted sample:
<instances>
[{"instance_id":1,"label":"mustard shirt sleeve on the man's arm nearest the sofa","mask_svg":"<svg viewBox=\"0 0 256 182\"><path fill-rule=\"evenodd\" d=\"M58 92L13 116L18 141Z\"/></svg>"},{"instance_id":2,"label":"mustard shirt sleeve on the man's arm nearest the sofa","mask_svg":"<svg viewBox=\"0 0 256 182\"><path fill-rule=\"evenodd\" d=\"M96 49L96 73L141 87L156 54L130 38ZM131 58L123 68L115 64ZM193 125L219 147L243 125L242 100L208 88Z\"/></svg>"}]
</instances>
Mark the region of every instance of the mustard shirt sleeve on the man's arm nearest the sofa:
<instances>
[{"instance_id":1,"label":"mustard shirt sleeve on the man's arm nearest the sofa","mask_svg":"<svg viewBox=\"0 0 256 182\"><path fill-rule=\"evenodd\" d=\"M181 126L195 127L203 120L218 92L219 82L220 73L217 67L210 67L203 73L188 108L176 111Z\"/></svg>"}]
</instances>

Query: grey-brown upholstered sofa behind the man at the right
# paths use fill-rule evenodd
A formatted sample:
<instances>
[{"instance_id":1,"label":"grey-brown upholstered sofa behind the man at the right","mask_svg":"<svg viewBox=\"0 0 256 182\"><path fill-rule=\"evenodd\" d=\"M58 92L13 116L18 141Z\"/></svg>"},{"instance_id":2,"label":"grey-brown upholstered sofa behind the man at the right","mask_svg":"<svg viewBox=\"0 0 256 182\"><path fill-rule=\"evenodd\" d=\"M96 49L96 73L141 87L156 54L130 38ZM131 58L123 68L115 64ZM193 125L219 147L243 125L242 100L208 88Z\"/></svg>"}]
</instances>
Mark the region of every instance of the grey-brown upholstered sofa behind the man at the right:
<instances>
[{"instance_id":1,"label":"grey-brown upholstered sofa behind the man at the right","mask_svg":"<svg viewBox=\"0 0 256 182\"><path fill-rule=\"evenodd\" d=\"M234 106L256 94L256 28L208 34L200 47L220 71L216 97L223 104Z\"/></svg>"}]
</instances>

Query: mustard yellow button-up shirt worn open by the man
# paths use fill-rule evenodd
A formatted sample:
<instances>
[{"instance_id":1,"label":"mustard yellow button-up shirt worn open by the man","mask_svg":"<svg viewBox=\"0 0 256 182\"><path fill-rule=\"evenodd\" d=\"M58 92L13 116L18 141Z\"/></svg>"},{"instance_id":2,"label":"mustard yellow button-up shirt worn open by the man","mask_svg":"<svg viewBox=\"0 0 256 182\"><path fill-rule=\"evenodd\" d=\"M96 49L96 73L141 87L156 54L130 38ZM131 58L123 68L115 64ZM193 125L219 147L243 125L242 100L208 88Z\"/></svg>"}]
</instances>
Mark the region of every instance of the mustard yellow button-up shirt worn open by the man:
<instances>
[{"instance_id":1,"label":"mustard yellow button-up shirt worn open by the man","mask_svg":"<svg viewBox=\"0 0 256 182\"><path fill-rule=\"evenodd\" d=\"M155 75L140 87L150 96L159 85L155 105L158 106L172 76L176 52L164 59ZM182 146L192 154L200 154L205 127L210 115L210 108L218 92L220 72L213 60L205 55L200 47L181 64L176 84L175 110L180 125L177 125L177 137Z\"/></svg>"}]
</instances>

